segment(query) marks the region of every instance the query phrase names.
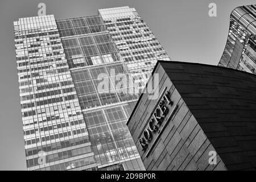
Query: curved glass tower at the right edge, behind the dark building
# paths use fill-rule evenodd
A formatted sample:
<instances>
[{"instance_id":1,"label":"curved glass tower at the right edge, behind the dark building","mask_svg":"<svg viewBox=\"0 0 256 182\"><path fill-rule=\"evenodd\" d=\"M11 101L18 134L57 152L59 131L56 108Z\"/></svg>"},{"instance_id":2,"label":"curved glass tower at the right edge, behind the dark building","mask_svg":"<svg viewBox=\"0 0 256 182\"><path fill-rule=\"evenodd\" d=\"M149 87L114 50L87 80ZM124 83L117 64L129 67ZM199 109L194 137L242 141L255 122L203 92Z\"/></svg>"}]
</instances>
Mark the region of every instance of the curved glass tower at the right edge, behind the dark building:
<instances>
[{"instance_id":1,"label":"curved glass tower at the right edge, behind the dark building","mask_svg":"<svg viewBox=\"0 0 256 182\"><path fill-rule=\"evenodd\" d=\"M256 5L234 9L230 15L228 40L221 67L256 74Z\"/></svg>"}]
</instances>

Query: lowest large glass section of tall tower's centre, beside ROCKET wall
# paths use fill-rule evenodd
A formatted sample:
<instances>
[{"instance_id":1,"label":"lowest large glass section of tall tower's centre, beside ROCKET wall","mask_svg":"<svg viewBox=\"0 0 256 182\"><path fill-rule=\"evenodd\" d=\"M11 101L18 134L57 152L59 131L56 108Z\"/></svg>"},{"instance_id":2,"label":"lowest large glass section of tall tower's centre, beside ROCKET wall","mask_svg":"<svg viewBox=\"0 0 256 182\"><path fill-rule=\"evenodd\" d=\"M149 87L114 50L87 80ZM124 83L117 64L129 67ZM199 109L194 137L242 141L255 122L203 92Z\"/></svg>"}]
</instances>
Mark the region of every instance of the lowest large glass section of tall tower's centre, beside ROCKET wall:
<instances>
[{"instance_id":1,"label":"lowest large glass section of tall tower's centre, beside ROCKET wall","mask_svg":"<svg viewBox=\"0 0 256 182\"><path fill-rule=\"evenodd\" d=\"M126 126L125 106L127 104L83 113L99 167L127 162L139 156ZM133 169L143 169L143 164Z\"/></svg>"}]
</instances>

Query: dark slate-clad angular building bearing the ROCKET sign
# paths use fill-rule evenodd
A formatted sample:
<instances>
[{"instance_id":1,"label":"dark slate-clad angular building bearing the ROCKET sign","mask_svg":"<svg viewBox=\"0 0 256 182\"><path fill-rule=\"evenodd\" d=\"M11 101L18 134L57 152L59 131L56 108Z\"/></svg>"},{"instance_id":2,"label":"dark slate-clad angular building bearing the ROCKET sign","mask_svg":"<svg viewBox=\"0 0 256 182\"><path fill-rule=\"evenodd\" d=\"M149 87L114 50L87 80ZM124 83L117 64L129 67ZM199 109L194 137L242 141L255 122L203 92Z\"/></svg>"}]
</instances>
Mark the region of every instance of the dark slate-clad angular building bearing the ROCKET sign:
<instances>
[{"instance_id":1,"label":"dark slate-clad angular building bearing the ROCKET sign","mask_svg":"<svg viewBox=\"0 0 256 182\"><path fill-rule=\"evenodd\" d=\"M256 169L255 75L175 61L156 73L158 97L143 93L127 122L147 170Z\"/></svg>"}]
</instances>

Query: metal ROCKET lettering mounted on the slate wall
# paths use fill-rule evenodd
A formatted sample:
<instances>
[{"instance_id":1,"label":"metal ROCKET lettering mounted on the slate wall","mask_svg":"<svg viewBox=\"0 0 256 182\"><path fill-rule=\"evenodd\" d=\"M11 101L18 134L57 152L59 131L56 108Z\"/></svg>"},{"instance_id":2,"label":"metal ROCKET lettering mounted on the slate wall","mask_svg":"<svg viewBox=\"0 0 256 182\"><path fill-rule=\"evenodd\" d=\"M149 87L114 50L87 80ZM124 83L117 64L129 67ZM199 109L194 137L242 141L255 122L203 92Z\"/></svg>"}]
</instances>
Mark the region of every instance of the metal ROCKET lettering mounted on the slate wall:
<instances>
[{"instance_id":1,"label":"metal ROCKET lettering mounted on the slate wall","mask_svg":"<svg viewBox=\"0 0 256 182\"><path fill-rule=\"evenodd\" d=\"M167 105L172 105L172 101L169 97L169 92L165 92L163 97L160 99L159 104L156 106L154 113L150 117L150 121L148 122L148 126L144 129L142 133L142 138L139 139L139 144L142 147L142 150L146 150L148 143L150 143L152 139L152 133L159 133L159 127L166 118L168 114Z\"/></svg>"}]
</instances>

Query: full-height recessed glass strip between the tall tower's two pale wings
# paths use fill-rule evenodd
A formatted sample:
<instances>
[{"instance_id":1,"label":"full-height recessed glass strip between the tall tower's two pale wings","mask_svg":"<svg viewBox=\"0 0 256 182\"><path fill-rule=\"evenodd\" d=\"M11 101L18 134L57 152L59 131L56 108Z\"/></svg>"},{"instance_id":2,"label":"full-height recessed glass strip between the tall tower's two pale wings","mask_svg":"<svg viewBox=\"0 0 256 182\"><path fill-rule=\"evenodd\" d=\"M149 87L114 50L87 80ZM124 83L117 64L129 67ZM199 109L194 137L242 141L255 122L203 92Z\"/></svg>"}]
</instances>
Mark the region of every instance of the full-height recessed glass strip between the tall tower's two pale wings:
<instances>
[{"instance_id":1,"label":"full-height recessed glass strip between the tall tower's two pale wings","mask_svg":"<svg viewBox=\"0 0 256 182\"><path fill-rule=\"evenodd\" d=\"M74 19L65 21L69 22L68 25L73 24L74 29L81 24L81 27L86 29L84 19L87 19L87 16L77 18L76 25ZM63 22L63 20L58 20L58 22ZM103 21L100 18L96 24L101 24L101 22ZM97 34L88 31L71 37L60 34L79 104L84 113L89 138L92 141L97 167L104 169L114 164L122 164L119 169L144 169L137 148L125 125L127 113L130 112L131 107L128 104L122 104L118 107L118 111L117 109L98 109L98 107L112 107L120 102L134 104L133 101L138 98L133 90L134 85L129 85L131 77L129 77L126 65L123 64L119 50L109 32L106 32L105 24L101 26L104 28ZM67 28L71 27L65 26L64 29ZM102 74L104 77L100 77ZM128 78L125 84L118 88L115 87L119 82L115 78L117 74ZM104 86L108 84L107 92L98 89L98 85L102 83ZM123 90L126 91L122 92ZM92 112L96 113L97 117L88 116ZM99 148L100 146L102 148ZM130 165L131 161L137 165Z\"/></svg>"}]
</instances>

